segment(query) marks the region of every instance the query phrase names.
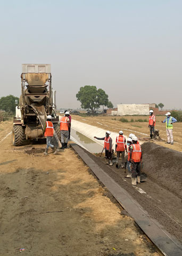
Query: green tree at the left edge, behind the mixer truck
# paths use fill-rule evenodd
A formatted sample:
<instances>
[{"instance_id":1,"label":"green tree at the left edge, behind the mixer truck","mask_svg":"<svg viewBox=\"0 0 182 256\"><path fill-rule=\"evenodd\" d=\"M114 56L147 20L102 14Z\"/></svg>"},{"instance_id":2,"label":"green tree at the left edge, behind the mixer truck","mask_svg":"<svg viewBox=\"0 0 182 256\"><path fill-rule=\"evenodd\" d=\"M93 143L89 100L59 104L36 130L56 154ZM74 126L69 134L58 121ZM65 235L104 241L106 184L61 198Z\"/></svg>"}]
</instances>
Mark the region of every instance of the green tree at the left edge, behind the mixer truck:
<instances>
[{"instance_id":1,"label":"green tree at the left edge, behind the mixer truck","mask_svg":"<svg viewBox=\"0 0 182 256\"><path fill-rule=\"evenodd\" d=\"M1 97L0 99L0 109L5 110L6 112L15 113L15 100L19 103L19 98L14 97L13 95L8 95L6 97Z\"/></svg>"}]
</instances>

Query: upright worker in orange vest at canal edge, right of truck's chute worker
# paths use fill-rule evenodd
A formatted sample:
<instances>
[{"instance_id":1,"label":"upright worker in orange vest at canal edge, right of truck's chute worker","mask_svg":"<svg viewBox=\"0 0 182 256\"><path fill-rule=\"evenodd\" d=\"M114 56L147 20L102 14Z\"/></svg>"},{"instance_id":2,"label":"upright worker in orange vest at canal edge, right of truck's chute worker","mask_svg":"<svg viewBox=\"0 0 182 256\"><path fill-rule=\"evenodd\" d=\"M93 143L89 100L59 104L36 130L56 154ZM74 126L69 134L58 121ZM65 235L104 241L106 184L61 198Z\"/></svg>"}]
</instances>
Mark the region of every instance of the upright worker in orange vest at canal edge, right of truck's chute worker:
<instances>
[{"instance_id":1,"label":"upright worker in orange vest at canal edge, right of truck's chute worker","mask_svg":"<svg viewBox=\"0 0 182 256\"><path fill-rule=\"evenodd\" d=\"M69 111L65 112L65 116L61 117L60 120L60 131L61 131L61 149L68 148L68 140L69 140L69 127L70 127L70 119L69 119Z\"/></svg>"}]
</instances>

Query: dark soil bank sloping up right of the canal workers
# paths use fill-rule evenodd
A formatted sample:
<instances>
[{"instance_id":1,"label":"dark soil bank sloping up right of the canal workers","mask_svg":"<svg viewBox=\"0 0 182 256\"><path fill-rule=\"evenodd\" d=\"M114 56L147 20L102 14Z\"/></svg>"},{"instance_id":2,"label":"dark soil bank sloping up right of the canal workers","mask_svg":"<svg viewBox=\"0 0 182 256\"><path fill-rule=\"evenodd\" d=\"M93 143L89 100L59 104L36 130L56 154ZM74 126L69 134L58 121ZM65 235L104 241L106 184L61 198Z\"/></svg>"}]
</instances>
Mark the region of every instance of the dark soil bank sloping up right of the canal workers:
<instances>
[{"instance_id":1,"label":"dark soil bank sloping up right of the canal workers","mask_svg":"<svg viewBox=\"0 0 182 256\"><path fill-rule=\"evenodd\" d=\"M182 198L182 153L151 142L145 142L142 151L148 177Z\"/></svg>"}]
</instances>

